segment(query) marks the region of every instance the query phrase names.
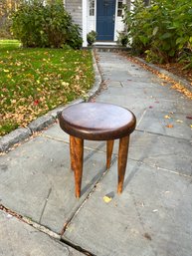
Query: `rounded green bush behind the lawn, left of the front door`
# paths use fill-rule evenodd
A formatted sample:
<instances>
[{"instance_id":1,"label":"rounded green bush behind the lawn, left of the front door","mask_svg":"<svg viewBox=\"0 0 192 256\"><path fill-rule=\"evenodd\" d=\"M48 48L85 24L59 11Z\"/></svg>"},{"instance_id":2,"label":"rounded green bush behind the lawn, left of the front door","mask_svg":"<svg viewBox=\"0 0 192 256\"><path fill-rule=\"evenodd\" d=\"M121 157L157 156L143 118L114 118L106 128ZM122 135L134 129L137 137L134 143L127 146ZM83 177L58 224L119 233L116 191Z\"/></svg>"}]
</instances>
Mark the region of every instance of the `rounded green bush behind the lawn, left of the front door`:
<instances>
[{"instance_id":1,"label":"rounded green bush behind the lawn, left of the front door","mask_svg":"<svg viewBox=\"0 0 192 256\"><path fill-rule=\"evenodd\" d=\"M12 15L12 32L24 47L82 46L80 28L57 2L44 5L40 0L26 1Z\"/></svg>"}]
</instances>

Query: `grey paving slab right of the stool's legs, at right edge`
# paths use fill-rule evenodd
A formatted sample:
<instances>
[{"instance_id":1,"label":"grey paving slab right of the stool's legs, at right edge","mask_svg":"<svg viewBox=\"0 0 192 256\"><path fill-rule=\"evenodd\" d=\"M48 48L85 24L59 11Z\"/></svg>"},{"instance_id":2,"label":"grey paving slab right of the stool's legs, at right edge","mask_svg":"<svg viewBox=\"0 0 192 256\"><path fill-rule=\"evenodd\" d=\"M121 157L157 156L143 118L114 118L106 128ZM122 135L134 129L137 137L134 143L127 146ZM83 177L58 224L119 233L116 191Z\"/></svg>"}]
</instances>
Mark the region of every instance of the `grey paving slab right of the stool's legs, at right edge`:
<instances>
[{"instance_id":1,"label":"grey paving slab right of the stool's legs, at right edge","mask_svg":"<svg viewBox=\"0 0 192 256\"><path fill-rule=\"evenodd\" d=\"M135 130L130 137L129 158L148 165L192 176L192 141Z\"/></svg>"}]
</instances>

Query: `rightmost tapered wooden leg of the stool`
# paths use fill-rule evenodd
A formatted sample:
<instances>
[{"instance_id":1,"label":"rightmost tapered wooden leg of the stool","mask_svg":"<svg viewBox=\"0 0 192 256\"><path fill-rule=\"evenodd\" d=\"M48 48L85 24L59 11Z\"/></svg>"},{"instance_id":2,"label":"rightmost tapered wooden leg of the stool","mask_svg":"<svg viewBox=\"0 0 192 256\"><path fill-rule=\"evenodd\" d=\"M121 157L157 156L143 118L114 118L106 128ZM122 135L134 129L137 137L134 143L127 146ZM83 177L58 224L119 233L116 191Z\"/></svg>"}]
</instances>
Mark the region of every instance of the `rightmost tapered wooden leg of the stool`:
<instances>
[{"instance_id":1,"label":"rightmost tapered wooden leg of the stool","mask_svg":"<svg viewBox=\"0 0 192 256\"><path fill-rule=\"evenodd\" d=\"M129 135L120 138L119 149L118 149L118 187L117 187L118 193L122 192L124 174L126 170L128 144L129 144Z\"/></svg>"}]
</instances>

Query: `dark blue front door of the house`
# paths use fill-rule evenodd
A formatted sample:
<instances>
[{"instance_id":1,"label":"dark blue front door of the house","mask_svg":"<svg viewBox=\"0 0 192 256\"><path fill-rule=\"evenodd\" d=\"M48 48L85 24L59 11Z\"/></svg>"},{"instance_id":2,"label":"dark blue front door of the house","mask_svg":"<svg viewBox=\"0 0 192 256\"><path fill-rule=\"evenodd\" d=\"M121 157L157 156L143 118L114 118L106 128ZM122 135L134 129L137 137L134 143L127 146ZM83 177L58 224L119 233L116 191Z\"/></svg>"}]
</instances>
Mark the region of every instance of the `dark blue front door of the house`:
<instances>
[{"instance_id":1,"label":"dark blue front door of the house","mask_svg":"<svg viewBox=\"0 0 192 256\"><path fill-rule=\"evenodd\" d=\"M96 0L96 40L113 40L114 17L115 0Z\"/></svg>"}]
</instances>

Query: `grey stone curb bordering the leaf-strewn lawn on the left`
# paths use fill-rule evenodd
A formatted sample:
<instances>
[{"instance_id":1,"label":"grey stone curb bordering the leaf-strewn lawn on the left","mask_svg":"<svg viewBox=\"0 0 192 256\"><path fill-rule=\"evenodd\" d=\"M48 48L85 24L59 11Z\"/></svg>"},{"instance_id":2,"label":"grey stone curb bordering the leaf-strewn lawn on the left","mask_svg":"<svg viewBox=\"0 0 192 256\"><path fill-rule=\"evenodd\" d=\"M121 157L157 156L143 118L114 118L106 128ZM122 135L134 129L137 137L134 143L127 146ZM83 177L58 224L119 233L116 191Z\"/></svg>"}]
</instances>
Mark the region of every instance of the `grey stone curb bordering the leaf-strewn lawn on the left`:
<instances>
[{"instance_id":1,"label":"grey stone curb bordering the leaf-strewn lawn on the left","mask_svg":"<svg viewBox=\"0 0 192 256\"><path fill-rule=\"evenodd\" d=\"M53 125L54 123L57 122L58 116L61 114L61 112L64 109L75 104L89 102L99 92L102 80L101 80L100 73L98 71L98 67L96 64L96 57L93 51L92 51L92 56L93 56L93 67L95 72L95 83L92 89L89 91L87 99L79 98L69 104L66 104L64 106L59 106L56 109L48 112L47 114L31 122L27 126L27 128L16 128L11 132L3 135L0 138L0 152L9 151L9 149L11 149L11 147L16 143L20 143L24 141L26 138L29 138L35 132L41 131L44 128L48 128L49 126Z\"/></svg>"}]
</instances>

